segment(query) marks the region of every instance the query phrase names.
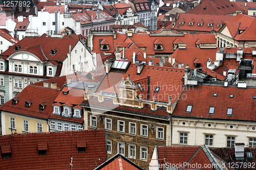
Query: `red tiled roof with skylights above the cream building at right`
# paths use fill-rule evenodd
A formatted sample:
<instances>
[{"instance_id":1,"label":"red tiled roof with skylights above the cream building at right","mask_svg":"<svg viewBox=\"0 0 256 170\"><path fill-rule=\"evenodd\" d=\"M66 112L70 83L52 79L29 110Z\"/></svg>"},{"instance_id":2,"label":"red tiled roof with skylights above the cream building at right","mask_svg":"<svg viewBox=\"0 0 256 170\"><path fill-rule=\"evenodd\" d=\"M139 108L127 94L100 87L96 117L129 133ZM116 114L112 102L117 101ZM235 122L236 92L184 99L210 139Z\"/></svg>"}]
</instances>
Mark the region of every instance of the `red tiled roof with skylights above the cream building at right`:
<instances>
[{"instance_id":1,"label":"red tiled roof with skylights above the cream building at right","mask_svg":"<svg viewBox=\"0 0 256 170\"><path fill-rule=\"evenodd\" d=\"M216 96L213 94L216 93ZM237 87L200 85L198 89L185 90L186 100L181 100L173 113L176 117L197 117L210 119L228 119L255 121L253 108L256 100L254 88L238 89ZM233 95L230 98L229 95ZM207 101L207 102L206 102ZM246 101L246 105L243 104ZM191 113L186 112L187 105L192 105ZM209 114L209 108L215 107L214 114ZM227 115L227 109L232 108L232 115Z\"/></svg>"}]
</instances>

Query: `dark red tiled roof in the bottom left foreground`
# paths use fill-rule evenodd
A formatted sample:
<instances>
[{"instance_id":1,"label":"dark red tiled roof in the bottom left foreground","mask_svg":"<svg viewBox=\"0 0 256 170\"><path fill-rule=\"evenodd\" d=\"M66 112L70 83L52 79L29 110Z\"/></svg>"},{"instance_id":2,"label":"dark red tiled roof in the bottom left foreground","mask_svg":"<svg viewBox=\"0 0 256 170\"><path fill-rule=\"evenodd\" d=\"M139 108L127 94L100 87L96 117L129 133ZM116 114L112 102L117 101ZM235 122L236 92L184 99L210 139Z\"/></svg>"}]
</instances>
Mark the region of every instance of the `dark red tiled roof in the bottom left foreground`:
<instances>
[{"instance_id":1,"label":"dark red tiled roof in the bottom left foreground","mask_svg":"<svg viewBox=\"0 0 256 170\"><path fill-rule=\"evenodd\" d=\"M106 161L104 130L23 133L0 136L0 145L9 144L11 158L1 159L0 169L94 169ZM65 139L65 140L64 140ZM79 153L77 140L86 142L86 152ZM47 143L38 148L38 143ZM38 149L47 152L39 155ZM73 159L72 159L73 158ZM100 160L99 160L100 158ZM71 164L72 163L72 164Z\"/></svg>"}]
</instances>

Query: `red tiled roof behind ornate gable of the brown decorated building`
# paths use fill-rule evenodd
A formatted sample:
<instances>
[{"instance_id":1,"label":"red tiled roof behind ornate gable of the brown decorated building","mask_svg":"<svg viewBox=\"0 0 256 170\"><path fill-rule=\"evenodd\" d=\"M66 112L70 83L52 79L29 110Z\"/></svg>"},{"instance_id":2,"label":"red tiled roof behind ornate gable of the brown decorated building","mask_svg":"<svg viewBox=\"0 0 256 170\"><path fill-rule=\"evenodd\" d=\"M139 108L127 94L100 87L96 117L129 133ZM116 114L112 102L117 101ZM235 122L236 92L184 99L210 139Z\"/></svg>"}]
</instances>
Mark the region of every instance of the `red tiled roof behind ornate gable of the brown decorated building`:
<instances>
[{"instance_id":1,"label":"red tiled roof behind ornate gable of the brown decorated building","mask_svg":"<svg viewBox=\"0 0 256 170\"><path fill-rule=\"evenodd\" d=\"M109 93L114 93L115 91L118 91L119 93L118 85L122 79L127 78L128 74L130 74L130 78L133 81L148 76L150 77L151 89L147 89L146 86L144 90L150 90L151 101L155 96L156 101L168 102L168 97L172 94L173 102L175 102L179 99L180 93L183 90L182 78L184 76L184 69L144 65L141 74L137 75L137 64L131 64L125 74L114 72L111 70L111 72L104 77L102 83L97 90L97 93L99 93L100 90ZM160 87L160 90L158 93L154 93L157 86ZM178 89L176 90L173 88L166 88L170 86L175 86ZM143 96L142 99L146 100L146 96Z\"/></svg>"}]
</instances>

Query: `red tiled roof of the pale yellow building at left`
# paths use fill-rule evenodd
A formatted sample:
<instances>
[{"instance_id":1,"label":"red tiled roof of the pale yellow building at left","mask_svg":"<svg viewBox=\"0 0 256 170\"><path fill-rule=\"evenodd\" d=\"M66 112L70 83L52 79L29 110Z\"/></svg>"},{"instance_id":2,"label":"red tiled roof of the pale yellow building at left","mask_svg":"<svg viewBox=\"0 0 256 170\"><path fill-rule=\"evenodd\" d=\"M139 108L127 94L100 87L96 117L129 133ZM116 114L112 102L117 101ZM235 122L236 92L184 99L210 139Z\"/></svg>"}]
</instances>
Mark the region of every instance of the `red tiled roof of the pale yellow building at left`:
<instances>
[{"instance_id":1,"label":"red tiled roof of the pale yellow building at left","mask_svg":"<svg viewBox=\"0 0 256 170\"><path fill-rule=\"evenodd\" d=\"M19 101L16 105L12 105L12 100L10 100L2 105L0 110L41 119L47 119L50 113L53 111L52 103L56 99L59 92L60 90L30 85L16 96L19 98ZM26 108L25 102L29 100L32 100L33 103L29 108ZM47 104L47 106L43 111L40 111L39 104L44 102Z\"/></svg>"}]
</instances>

